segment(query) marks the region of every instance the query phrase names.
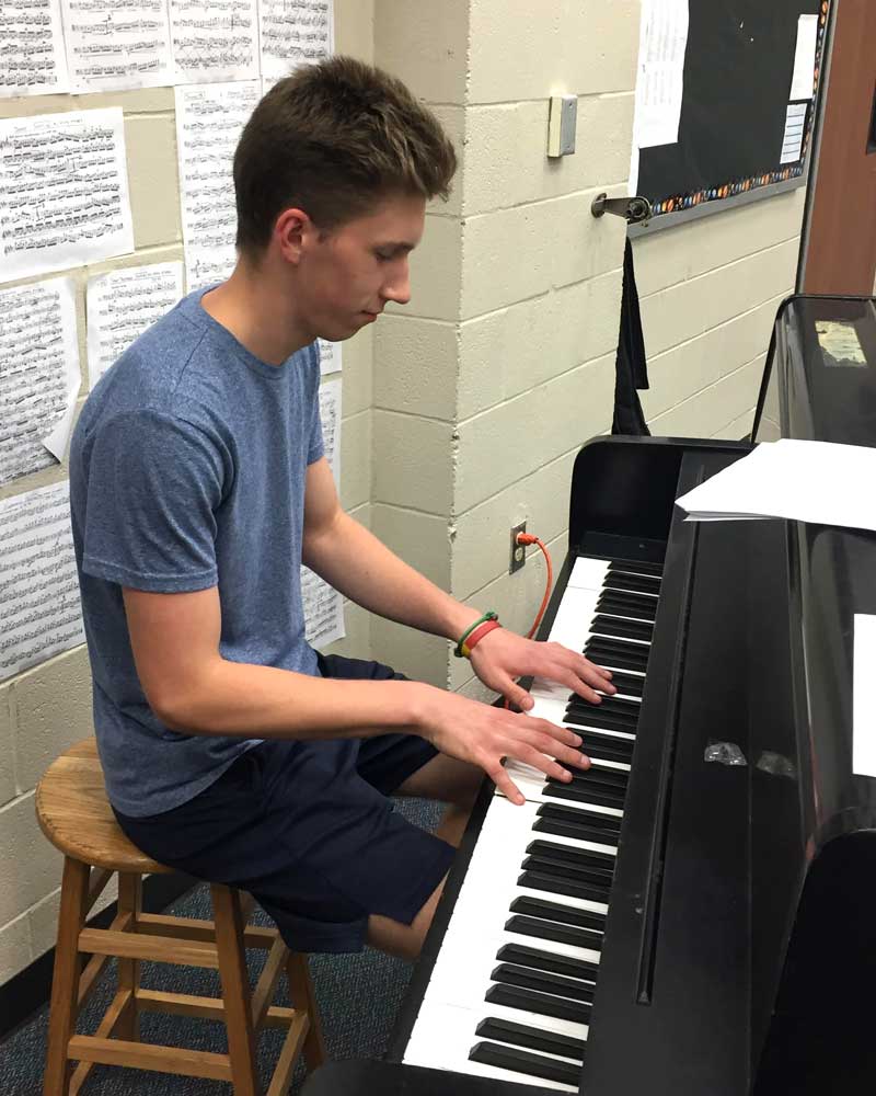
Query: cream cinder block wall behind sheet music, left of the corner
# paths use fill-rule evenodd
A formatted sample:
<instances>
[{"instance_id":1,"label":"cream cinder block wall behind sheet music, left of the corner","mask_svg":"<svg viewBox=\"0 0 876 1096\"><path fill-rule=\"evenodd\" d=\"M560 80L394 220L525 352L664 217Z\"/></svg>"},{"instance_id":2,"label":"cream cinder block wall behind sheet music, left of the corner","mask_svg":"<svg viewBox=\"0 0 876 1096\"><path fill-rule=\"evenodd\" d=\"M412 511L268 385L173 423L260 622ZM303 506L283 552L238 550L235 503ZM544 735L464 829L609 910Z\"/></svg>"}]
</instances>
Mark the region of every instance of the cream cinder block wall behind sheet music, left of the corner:
<instances>
[{"instance_id":1,"label":"cream cinder block wall behind sheet music, left of the corner","mask_svg":"<svg viewBox=\"0 0 876 1096\"><path fill-rule=\"evenodd\" d=\"M335 0L336 48L372 59L371 0ZM85 285L89 277L125 266L183 258L172 88L92 95L44 95L0 102L0 117L122 106L136 252L69 273L77 283L79 351L88 393ZM62 272L67 273L67 272ZM55 275L49 275L55 276ZM41 278L5 283L3 288ZM370 523L371 331L344 346L342 501ZM0 490L0 499L67 478L66 461ZM331 650L367 655L369 623L347 607L348 638ZM91 674L84 647L0 684L0 984L55 944L61 858L39 831L34 789L50 762L92 734ZM105 892L102 904L115 894ZM100 909L99 904L95 909Z\"/></svg>"}]
</instances>

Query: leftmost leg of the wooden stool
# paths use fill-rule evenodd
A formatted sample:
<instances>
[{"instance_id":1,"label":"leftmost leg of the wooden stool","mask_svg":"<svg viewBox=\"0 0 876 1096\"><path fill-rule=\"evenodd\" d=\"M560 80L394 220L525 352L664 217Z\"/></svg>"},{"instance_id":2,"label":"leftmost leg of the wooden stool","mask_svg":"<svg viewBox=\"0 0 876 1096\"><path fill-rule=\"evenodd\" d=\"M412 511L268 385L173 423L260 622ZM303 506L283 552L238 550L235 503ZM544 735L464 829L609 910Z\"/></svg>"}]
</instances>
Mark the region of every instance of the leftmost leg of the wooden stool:
<instances>
[{"instance_id":1,"label":"leftmost leg of the wooden stool","mask_svg":"<svg viewBox=\"0 0 876 1096\"><path fill-rule=\"evenodd\" d=\"M87 864L70 856L65 857L55 973L51 980L48 1050L43 1076L44 1096L67 1096L69 1092L71 1063L67 1058L67 1046L79 1012L79 975L82 969L79 934L85 922L90 872Z\"/></svg>"}]
</instances>

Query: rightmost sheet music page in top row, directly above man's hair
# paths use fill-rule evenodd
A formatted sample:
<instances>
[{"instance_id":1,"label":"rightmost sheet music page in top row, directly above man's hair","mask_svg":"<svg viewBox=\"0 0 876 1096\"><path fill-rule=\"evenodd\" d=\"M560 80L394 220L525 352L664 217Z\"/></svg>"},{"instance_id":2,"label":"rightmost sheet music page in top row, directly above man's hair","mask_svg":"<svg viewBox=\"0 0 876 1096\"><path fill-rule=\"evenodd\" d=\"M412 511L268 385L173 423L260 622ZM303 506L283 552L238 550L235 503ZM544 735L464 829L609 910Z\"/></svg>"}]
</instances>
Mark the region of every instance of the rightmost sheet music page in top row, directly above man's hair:
<instances>
[{"instance_id":1,"label":"rightmost sheet music page in top row, directly above man's hair","mask_svg":"<svg viewBox=\"0 0 876 1096\"><path fill-rule=\"evenodd\" d=\"M333 0L258 0L264 90L335 48Z\"/></svg>"}]
</instances>

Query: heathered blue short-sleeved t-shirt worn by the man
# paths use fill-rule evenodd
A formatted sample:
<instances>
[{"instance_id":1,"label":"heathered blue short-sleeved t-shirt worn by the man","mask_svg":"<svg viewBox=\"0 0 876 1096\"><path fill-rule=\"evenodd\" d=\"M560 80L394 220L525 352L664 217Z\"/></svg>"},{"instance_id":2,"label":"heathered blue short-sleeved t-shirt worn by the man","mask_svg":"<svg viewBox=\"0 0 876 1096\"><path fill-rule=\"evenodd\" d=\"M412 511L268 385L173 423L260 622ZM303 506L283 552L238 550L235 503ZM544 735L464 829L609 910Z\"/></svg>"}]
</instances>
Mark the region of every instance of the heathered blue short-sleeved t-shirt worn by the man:
<instances>
[{"instance_id":1,"label":"heathered blue short-sleeved t-shirt worn by the man","mask_svg":"<svg viewBox=\"0 0 876 1096\"><path fill-rule=\"evenodd\" d=\"M200 306L145 332L89 396L70 448L70 509L94 724L112 803L158 814L258 739L181 734L147 704L122 587L218 586L220 653L316 674L304 640L307 466L323 453L316 344L268 365Z\"/></svg>"}]
</instances>

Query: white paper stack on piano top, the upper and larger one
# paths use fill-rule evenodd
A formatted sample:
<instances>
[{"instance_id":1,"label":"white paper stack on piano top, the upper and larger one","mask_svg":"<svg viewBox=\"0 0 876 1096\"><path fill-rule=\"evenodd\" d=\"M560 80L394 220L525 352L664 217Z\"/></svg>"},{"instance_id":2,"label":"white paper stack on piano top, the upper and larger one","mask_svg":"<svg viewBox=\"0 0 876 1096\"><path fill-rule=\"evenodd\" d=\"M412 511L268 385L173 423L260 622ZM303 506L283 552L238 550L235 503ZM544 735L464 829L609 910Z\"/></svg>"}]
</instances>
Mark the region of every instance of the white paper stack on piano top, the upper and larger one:
<instances>
[{"instance_id":1,"label":"white paper stack on piano top, the upper and larger one","mask_svg":"<svg viewBox=\"0 0 876 1096\"><path fill-rule=\"evenodd\" d=\"M782 438L678 499L688 521L784 517L876 532L876 448Z\"/></svg>"}]
</instances>

